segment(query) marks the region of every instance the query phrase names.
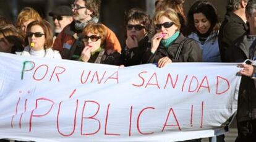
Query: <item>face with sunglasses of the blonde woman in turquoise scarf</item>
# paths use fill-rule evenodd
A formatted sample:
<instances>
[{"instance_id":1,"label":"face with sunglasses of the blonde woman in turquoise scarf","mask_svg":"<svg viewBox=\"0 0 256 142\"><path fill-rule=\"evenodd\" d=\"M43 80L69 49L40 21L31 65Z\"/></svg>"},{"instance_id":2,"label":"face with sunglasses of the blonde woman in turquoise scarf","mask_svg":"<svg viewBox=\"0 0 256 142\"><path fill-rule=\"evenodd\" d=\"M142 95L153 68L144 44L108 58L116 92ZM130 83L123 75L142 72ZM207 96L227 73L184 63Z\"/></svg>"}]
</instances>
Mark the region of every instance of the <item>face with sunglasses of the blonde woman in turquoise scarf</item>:
<instances>
[{"instance_id":1,"label":"face with sunglasses of the blonde woman in turquoise scarf","mask_svg":"<svg viewBox=\"0 0 256 142\"><path fill-rule=\"evenodd\" d=\"M163 40L170 38L177 31L177 26L173 24L171 19L165 16L160 17L155 26L158 27L156 31L162 34Z\"/></svg>"}]
</instances>

